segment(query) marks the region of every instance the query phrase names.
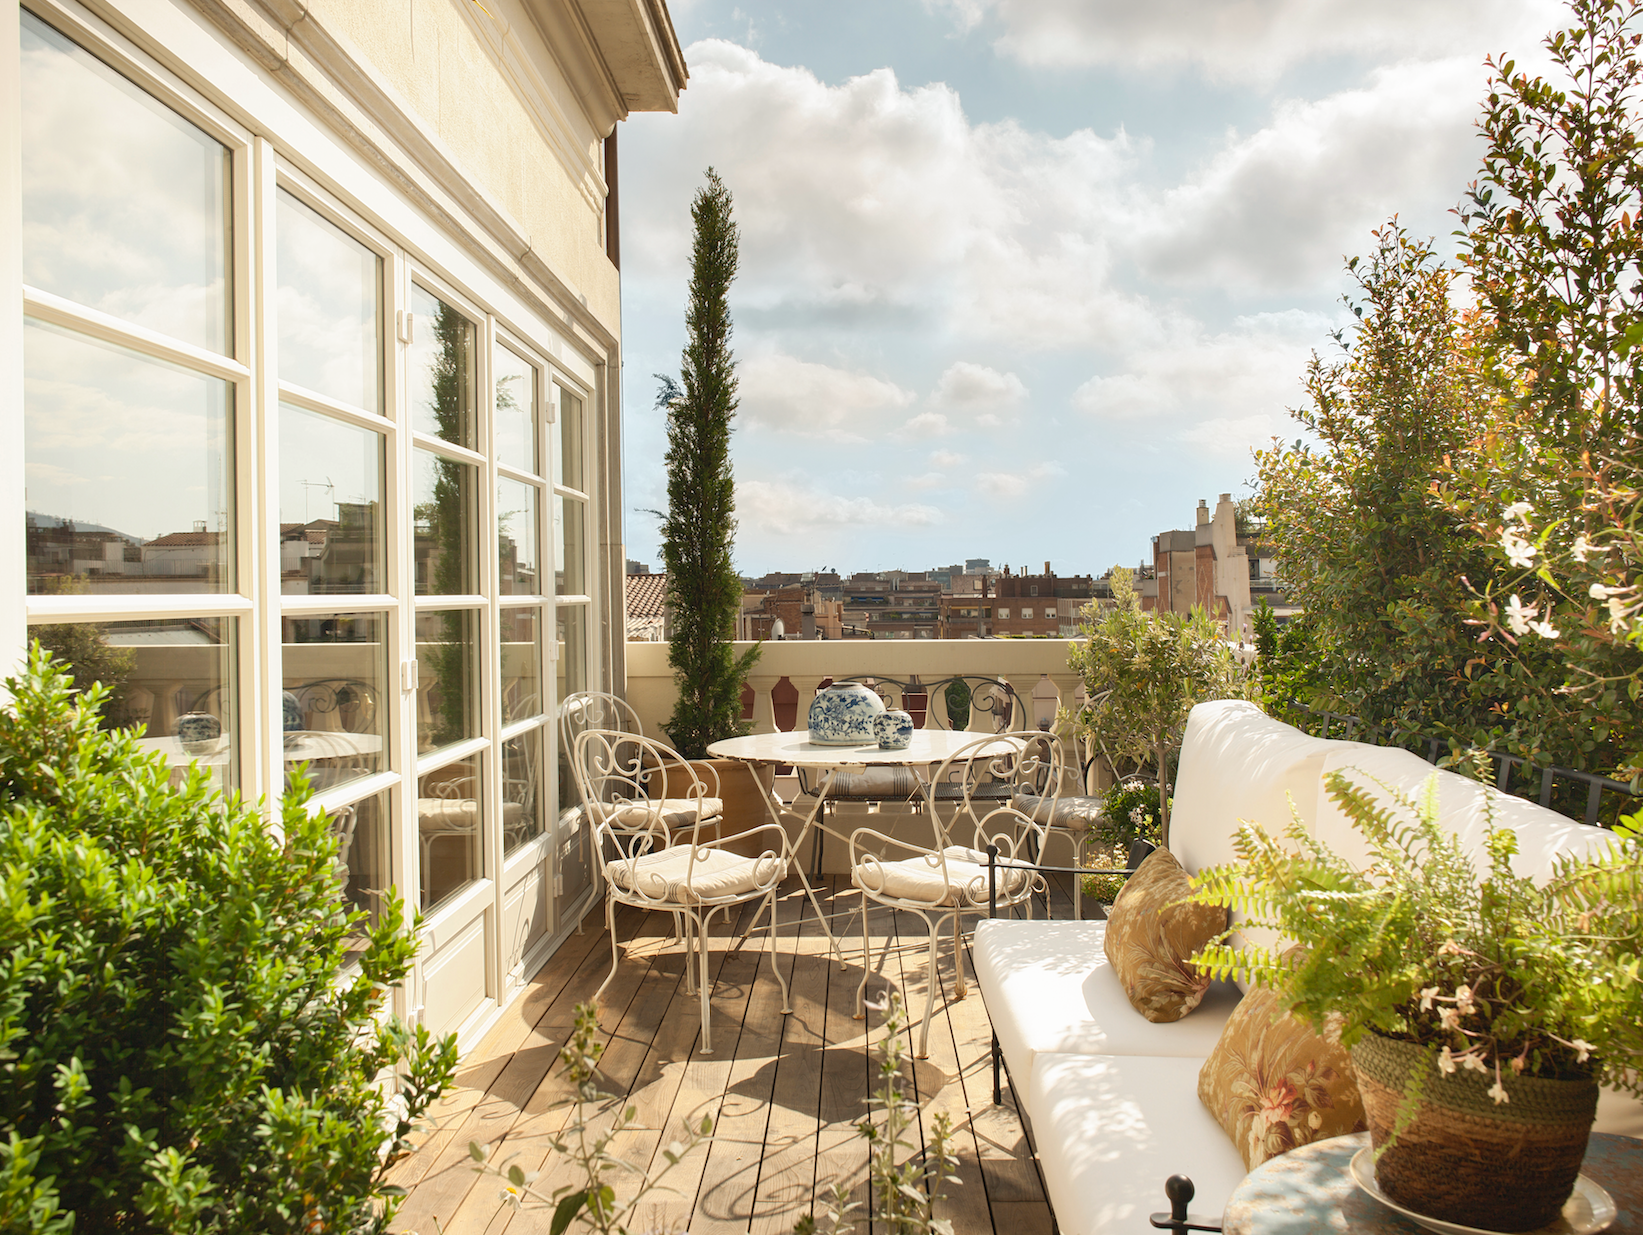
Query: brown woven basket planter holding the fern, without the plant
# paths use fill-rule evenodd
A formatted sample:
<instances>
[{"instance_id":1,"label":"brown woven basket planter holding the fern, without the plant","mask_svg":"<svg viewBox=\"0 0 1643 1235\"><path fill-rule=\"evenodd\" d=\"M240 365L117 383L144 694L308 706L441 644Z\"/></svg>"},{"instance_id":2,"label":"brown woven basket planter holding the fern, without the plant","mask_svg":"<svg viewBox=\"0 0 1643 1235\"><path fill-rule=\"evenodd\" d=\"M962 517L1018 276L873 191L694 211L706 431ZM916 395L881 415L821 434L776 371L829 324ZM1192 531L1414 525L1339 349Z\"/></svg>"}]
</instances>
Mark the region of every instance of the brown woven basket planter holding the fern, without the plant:
<instances>
[{"instance_id":1,"label":"brown woven basket planter holding the fern, without the plant","mask_svg":"<svg viewBox=\"0 0 1643 1235\"><path fill-rule=\"evenodd\" d=\"M1489 1097L1493 1076L1444 1076L1415 1043L1364 1036L1352 1048L1369 1135L1392 1140L1410 1077L1424 1074L1420 1109L1375 1161L1380 1189L1416 1214L1484 1230L1535 1230L1574 1191L1597 1118L1595 1081L1510 1077L1510 1102Z\"/></svg>"}]
</instances>

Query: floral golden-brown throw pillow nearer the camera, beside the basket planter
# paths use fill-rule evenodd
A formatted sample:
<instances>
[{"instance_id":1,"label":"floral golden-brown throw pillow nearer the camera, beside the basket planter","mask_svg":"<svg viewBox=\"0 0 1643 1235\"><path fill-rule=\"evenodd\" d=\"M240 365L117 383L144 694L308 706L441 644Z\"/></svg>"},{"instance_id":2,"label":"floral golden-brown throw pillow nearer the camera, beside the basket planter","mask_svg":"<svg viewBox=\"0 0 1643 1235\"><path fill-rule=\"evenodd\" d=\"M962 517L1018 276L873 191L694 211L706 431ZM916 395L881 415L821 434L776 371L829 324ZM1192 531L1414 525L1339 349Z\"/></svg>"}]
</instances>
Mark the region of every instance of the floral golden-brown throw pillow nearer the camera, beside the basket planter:
<instances>
[{"instance_id":1,"label":"floral golden-brown throw pillow nearer the camera, beside the basket planter","mask_svg":"<svg viewBox=\"0 0 1643 1235\"><path fill-rule=\"evenodd\" d=\"M1369 1130L1346 1048L1285 1012L1265 987L1227 1018L1198 1072L1198 1100L1250 1171L1296 1145Z\"/></svg>"}]
</instances>

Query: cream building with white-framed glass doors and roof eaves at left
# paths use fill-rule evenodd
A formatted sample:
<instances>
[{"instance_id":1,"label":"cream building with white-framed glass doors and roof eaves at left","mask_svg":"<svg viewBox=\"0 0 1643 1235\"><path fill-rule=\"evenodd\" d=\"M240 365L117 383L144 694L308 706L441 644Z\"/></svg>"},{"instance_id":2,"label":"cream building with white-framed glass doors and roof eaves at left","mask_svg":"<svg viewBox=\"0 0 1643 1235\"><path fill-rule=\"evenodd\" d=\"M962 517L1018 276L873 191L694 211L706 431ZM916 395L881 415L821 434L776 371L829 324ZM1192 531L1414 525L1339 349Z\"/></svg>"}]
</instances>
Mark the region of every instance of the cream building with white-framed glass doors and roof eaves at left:
<instances>
[{"instance_id":1,"label":"cream building with white-framed glass doors and roof eaves at left","mask_svg":"<svg viewBox=\"0 0 1643 1235\"><path fill-rule=\"evenodd\" d=\"M616 130L664 0L26 0L0 34L0 647L248 798L297 760L396 1010L472 1043L595 895L555 701L624 682ZM179 744L212 713L219 746Z\"/></svg>"}]
</instances>

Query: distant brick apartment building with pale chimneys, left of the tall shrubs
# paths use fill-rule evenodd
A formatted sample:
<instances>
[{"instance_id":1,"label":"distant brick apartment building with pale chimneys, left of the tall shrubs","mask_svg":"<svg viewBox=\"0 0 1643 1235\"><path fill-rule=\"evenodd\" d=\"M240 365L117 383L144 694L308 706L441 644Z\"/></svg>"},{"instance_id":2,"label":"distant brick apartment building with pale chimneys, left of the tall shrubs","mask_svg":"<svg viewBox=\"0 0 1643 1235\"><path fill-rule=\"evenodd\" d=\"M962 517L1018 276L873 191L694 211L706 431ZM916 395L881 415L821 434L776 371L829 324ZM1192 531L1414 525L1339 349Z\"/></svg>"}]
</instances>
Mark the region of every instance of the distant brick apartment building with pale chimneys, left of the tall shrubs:
<instances>
[{"instance_id":1,"label":"distant brick apartment building with pale chimneys, left of the tall shrubs","mask_svg":"<svg viewBox=\"0 0 1643 1235\"><path fill-rule=\"evenodd\" d=\"M1250 552L1252 545L1255 553ZM1152 578L1139 581L1144 609L1188 613L1201 606L1232 639L1254 637L1250 609L1259 595L1282 599L1272 558L1260 555L1257 537L1239 535L1232 494L1222 493L1214 514L1198 503L1191 530L1160 532L1152 539Z\"/></svg>"}]
</instances>

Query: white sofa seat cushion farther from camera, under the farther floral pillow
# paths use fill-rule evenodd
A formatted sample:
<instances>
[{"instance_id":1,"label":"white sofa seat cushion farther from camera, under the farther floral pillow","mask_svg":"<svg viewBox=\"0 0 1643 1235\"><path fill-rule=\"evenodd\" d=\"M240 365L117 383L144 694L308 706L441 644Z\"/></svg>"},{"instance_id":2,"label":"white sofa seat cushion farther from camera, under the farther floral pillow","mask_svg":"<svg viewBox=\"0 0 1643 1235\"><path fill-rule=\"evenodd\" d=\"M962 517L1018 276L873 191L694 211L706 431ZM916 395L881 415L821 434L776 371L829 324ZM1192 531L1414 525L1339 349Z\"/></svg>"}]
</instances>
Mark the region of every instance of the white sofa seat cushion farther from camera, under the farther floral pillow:
<instances>
[{"instance_id":1,"label":"white sofa seat cushion farther from camera, under the farther floral pillow","mask_svg":"<svg viewBox=\"0 0 1643 1235\"><path fill-rule=\"evenodd\" d=\"M1025 1086L1033 1059L1063 1054L1157 1054L1204 1058L1214 1049L1239 990L1213 982L1191 1017L1155 1025L1130 1007L1102 949L1104 921L976 925L971 956L992 1031Z\"/></svg>"}]
</instances>

